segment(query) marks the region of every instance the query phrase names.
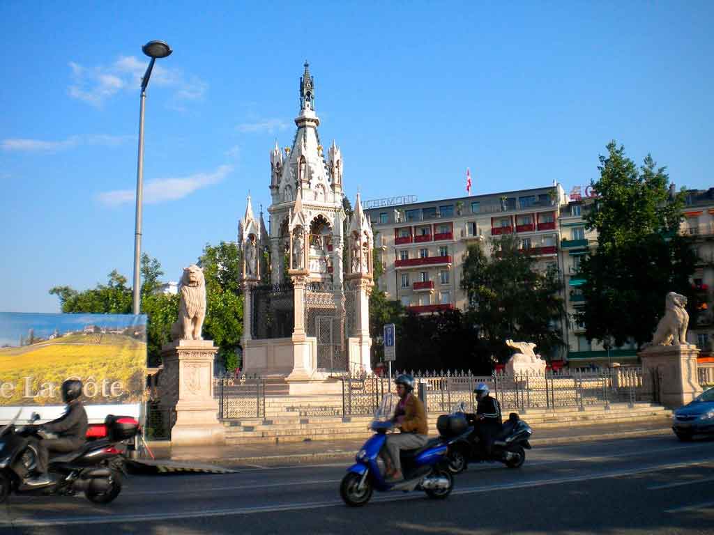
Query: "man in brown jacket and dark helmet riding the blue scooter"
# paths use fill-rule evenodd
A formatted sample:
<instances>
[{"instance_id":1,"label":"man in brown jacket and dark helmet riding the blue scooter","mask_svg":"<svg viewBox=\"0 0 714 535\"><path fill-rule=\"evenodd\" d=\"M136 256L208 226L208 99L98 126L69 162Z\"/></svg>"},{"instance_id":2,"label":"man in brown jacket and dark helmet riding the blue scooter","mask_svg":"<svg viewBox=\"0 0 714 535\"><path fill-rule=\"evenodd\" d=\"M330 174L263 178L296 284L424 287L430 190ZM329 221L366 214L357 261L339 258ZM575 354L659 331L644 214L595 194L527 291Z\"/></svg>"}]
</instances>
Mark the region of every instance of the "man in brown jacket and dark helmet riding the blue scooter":
<instances>
[{"instance_id":1,"label":"man in brown jacket and dark helmet riding the blue scooter","mask_svg":"<svg viewBox=\"0 0 714 535\"><path fill-rule=\"evenodd\" d=\"M408 374L401 374L395 382L399 403L394 411L392 422L399 427L401 433L390 434L386 440L388 454L386 476L391 482L404 479L399 458L400 450L421 448L428 442L426 412L423 403L413 394L414 378Z\"/></svg>"}]
</instances>

